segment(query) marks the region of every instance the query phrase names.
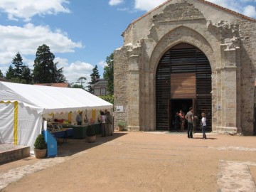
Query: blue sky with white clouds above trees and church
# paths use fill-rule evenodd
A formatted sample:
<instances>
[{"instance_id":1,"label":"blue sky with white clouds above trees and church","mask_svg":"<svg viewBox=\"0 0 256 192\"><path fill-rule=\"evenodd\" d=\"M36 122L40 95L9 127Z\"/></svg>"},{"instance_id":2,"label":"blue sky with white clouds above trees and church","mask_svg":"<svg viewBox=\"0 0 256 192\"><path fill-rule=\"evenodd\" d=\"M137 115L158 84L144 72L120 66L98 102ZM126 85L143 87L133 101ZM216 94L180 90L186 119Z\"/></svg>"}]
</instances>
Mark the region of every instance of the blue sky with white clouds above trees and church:
<instances>
[{"instance_id":1,"label":"blue sky with white clouds above trees and church","mask_svg":"<svg viewBox=\"0 0 256 192\"><path fill-rule=\"evenodd\" d=\"M68 82L90 81L97 65L103 78L107 56L122 46L122 32L165 0L0 0L0 70L16 53L33 69L38 46L46 44ZM256 18L256 0L209 0ZM86 85L85 85L86 86Z\"/></svg>"}]
</instances>

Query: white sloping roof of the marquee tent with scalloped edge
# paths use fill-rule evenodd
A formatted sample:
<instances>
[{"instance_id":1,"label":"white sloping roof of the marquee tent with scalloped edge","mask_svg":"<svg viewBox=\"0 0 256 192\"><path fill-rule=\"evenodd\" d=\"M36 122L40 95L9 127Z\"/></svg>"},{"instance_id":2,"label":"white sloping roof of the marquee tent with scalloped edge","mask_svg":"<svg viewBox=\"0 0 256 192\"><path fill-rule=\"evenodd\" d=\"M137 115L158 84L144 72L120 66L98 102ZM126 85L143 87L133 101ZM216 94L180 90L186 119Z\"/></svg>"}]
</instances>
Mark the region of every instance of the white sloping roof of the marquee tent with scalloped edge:
<instances>
[{"instance_id":1,"label":"white sloping roof of the marquee tent with scalloped edge","mask_svg":"<svg viewBox=\"0 0 256 192\"><path fill-rule=\"evenodd\" d=\"M113 105L82 89L0 82L0 101L21 103L38 114L90 109Z\"/></svg>"}]
</instances>

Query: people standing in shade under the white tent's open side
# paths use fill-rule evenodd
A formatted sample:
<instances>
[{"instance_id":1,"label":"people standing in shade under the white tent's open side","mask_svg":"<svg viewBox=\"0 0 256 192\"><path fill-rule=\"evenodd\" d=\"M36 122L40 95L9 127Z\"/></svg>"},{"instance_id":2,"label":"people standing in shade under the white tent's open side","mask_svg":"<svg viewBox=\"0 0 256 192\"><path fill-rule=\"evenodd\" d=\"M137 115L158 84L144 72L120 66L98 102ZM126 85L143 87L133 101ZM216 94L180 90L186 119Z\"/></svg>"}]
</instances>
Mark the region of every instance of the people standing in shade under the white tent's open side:
<instances>
[{"instance_id":1,"label":"people standing in shade under the white tent's open side","mask_svg":"<svg viewBox=\"0 0 256 192\"><path fill-rule=\"evenodd\" d=\"M76 117L76 122L78 125L82 124L82 111L78 113ZM112 127L112 115L109 111L100 110L100 114L97 117L98 122L101 124L102 137L106 137L107 134L113 135L114 129ZM85 114L85 123L88 121L87 115Z\"/></svg>"}]
</instances>

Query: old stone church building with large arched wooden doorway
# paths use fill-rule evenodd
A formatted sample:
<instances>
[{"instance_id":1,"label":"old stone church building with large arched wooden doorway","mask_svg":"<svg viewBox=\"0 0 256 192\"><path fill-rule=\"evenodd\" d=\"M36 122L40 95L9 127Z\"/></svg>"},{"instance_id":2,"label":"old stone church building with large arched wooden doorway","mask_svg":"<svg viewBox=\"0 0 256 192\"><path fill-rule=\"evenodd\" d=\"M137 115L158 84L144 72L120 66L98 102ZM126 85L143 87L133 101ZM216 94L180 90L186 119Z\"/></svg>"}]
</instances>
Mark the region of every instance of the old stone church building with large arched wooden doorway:
<instances>
[{"instance_id":1,"label":"old stone church building with large arched wooden doorway","mask_svg":"<svg viewBox=\"0 0 256 192\"><path fill-rule=\"evenodd\" d=\"M208 131L255 134L256 20L203 0L169 0L129 24L114 51L114 119L174 131L179 110Z\"/></svg>"}]
</instances>

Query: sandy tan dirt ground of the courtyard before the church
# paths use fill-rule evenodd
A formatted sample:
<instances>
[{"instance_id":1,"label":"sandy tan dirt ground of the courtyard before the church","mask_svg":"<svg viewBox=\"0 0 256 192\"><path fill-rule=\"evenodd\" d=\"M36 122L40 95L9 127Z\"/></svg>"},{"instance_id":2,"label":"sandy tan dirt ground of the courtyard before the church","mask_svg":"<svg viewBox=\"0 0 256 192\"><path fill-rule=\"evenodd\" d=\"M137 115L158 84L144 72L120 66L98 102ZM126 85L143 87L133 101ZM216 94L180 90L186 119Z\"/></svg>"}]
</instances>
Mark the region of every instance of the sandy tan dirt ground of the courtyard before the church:
<instances>
[{"instance_id":1,"label":"sandy tan dirt ground of the courtyard before the church","mask_svg":"<svg viewBox=\"0 0 256 192\"><path fill-rule=\"evenodd\" d=\"M58 157L0 166L0 181L25 173L0 191L255 191L256 137L207 136L114 132L92 144L68 139ZM40 162L50 165L38 170Z\"/></svg>"}]
</instances>

